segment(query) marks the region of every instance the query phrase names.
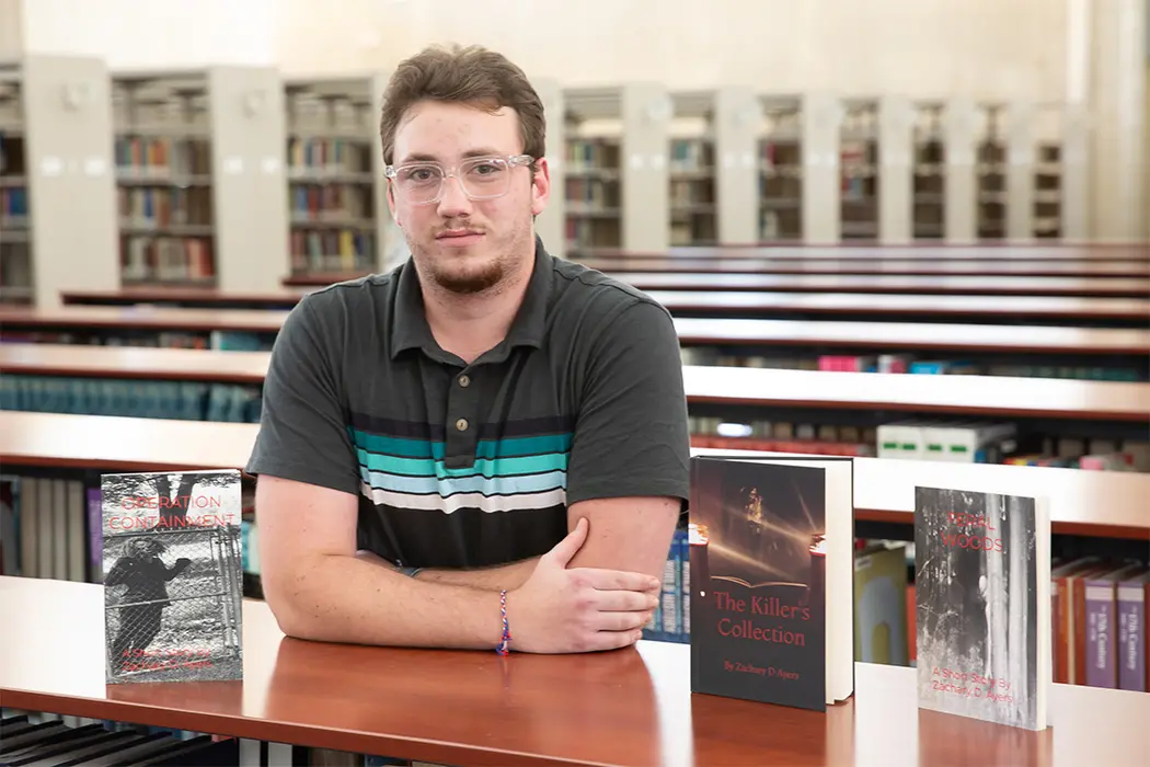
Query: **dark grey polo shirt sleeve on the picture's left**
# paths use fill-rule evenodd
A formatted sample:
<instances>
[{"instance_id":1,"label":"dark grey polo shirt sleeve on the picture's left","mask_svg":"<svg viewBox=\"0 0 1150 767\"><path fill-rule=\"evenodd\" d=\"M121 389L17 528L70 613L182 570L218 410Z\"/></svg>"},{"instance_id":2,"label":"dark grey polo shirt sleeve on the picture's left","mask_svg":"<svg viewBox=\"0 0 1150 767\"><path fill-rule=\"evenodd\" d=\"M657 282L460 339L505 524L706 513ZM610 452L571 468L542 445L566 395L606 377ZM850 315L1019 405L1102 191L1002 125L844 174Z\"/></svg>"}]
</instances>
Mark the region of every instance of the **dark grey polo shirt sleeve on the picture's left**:
<instances>
[{"instance_id":1,"label":"dark grey polo shirt sleeve on the picture's left","mask_svg":"<svg viewBox=\"0 0 1150 767\"><path fill-rule=\"evenodd\" d=\"M260 430L245 470L359 494L339 354L325 340L339 335L323 321L305 298L276 335L263 381Z\"/></svg>"}]
</instances>

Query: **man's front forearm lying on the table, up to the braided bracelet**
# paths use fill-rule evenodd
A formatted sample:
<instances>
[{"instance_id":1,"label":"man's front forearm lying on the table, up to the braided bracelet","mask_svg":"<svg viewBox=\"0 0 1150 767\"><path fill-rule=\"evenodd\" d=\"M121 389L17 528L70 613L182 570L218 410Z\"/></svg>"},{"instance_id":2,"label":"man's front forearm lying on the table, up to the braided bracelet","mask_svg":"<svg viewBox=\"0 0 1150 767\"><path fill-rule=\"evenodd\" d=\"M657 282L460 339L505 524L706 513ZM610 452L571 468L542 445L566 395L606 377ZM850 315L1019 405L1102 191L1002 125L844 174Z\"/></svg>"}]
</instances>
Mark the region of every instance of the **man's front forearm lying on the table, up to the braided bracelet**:
<instances>
[{"instance_id":1,"label":"man's front forearm lying on the table, up to the braided bracelet","mask_svg":"<svg viewBox=\"0 0 1150 767\"><path fill-rule=\"evenodd\" d=\"M266 584L268 604L290 636L493 649L503 635L498 591L409 578L356 557L320 555L297 565Z\"/></svg>"}]
</instances>

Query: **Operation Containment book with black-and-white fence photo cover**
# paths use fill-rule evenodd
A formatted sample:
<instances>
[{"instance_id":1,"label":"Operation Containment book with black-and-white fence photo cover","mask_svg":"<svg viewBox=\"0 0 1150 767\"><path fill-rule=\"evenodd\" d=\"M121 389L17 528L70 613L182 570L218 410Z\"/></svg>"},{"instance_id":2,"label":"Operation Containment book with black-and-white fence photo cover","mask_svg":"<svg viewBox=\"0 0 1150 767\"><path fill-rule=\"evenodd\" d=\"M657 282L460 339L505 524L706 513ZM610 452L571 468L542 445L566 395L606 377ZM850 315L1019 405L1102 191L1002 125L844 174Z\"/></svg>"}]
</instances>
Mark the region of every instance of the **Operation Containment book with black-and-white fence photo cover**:
<instances>
[{"instance_id":1,"label":"Operation Containment book with black-and-white fence photo cover","mask_svg":"<svg viewBox=\"0 0 1150 767\"><path fill-rule=\"evenodd\" d=\"M109 683L243 678L240 475L101 477Z\"/></svg>"}]
</instances>

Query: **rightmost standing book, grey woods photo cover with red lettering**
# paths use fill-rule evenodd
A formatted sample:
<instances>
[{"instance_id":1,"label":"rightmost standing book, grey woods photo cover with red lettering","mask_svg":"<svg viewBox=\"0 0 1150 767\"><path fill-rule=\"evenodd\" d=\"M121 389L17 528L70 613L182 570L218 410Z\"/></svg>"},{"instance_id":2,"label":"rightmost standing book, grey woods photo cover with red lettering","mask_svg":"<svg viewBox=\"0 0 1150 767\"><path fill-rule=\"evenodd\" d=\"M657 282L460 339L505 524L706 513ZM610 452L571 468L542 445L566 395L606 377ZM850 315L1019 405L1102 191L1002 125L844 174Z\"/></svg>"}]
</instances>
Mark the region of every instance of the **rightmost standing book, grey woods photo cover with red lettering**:
<instances>
[{"instance_id":1,"label":"rightmost standing book, grey woods photo cover with red lettering","mask_svg":"<svg viewBox=\"0 0 1150 767\"><path fill-rule=\"evenodd\" d=\"M920 708L1045 729L1050 568L1044 499L914 489Z\"/></svg>"}]
</instances>

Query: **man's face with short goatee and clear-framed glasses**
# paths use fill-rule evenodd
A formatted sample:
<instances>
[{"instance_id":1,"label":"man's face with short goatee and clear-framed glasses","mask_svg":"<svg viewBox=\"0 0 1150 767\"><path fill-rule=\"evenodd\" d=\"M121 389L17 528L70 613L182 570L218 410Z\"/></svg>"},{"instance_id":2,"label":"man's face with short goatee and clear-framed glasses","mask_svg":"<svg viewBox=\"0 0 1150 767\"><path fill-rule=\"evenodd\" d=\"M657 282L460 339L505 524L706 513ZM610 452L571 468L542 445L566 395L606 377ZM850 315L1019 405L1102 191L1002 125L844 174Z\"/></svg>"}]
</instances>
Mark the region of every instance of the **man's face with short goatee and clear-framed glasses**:
<instances>
[{"instance_id":1,"label":"man's face with short goatee and clear-framed glasses","mask_svg":"<svg viewBox=\"0 0 1150 767\"><path fill-rule=\"evenodd\" d=\"M530 167L509 167L507 193L494 199L469 199L458 177L460 163L470 158L522 153L515 112L504 107L492 114L473 105L421 101L404 116L394 147L394 166L434 161L455 172L444 179L438 202L415 204L394 181L388 185L388 204L421 278L451 292L476 293L534 258L532 216L546 205L546 161L538 163L534 178Z\"/></svg>"}]
</instances>

